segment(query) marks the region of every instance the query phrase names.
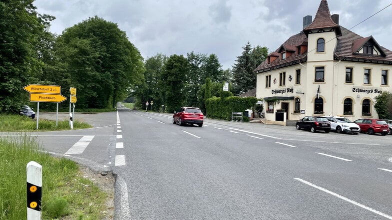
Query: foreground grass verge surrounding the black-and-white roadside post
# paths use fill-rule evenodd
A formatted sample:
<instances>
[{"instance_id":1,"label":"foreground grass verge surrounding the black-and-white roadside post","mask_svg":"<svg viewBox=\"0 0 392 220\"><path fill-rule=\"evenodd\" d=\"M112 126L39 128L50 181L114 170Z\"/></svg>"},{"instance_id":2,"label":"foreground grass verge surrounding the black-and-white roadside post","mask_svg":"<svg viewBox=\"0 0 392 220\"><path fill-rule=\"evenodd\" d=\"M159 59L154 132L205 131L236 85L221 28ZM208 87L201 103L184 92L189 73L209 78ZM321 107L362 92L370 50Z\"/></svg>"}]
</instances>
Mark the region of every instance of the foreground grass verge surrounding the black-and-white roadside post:
<instances>
[{"instance_id":1,"label":"foreground grass verge surrounding the black-and-white roadside post","mask_svg":"<svg viewBox=\"0 0 392 220\"><path fill-rule=\"evenodd\" d=\"M26 165L30 161L42 166L42 220L101 219L107 194L82 178L75 162L53 158L39 148L31 136L0 138L0 220L27 219Z\"/></svg>"}]
</instances>

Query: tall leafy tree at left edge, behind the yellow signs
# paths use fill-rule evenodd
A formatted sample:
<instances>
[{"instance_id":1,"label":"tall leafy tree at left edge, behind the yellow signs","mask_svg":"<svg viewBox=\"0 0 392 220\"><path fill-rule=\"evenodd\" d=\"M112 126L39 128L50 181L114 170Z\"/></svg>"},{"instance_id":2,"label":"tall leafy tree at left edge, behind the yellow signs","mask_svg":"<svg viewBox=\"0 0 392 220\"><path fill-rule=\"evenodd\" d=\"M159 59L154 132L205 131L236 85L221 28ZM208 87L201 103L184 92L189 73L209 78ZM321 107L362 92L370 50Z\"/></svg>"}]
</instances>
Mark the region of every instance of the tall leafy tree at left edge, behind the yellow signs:
<instances>
[{"instance_id":1,"label":"tall leafy tree at left edge, behind the yellow signs","mask_svg":"<svg viewBox=\"0 0 392 220\"><path fill-rule=\"evenodd\" d=\"M0 111L27 101L23 87L37 81L43 63L38 46L50 16L36 12L33 0L0 2Z\"/></svg>"}]
</instances>

